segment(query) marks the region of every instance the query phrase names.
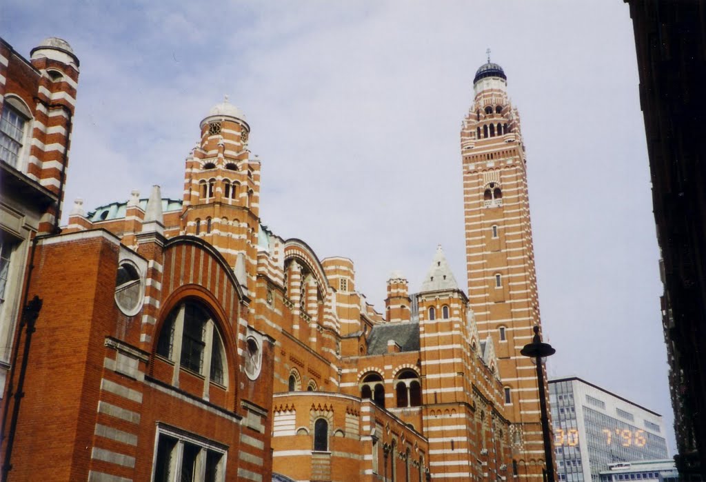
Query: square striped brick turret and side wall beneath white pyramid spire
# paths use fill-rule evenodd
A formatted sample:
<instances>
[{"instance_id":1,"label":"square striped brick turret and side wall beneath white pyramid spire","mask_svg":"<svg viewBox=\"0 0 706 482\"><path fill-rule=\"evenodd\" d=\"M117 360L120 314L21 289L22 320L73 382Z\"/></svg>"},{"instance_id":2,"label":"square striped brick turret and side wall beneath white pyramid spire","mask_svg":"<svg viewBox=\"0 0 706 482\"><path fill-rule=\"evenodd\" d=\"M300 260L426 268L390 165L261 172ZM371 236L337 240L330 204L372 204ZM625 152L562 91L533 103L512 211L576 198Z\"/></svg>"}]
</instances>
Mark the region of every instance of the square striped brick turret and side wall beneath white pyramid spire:
<instances>
[{"instance_id":1,"label":"square striped brick turret and side wall beneath white pyramid spire","mask_svg":"<svg viewBox=\"0 0 706 482\"><path fill-rule=\"evenodd\" d=\"M462 291L423 292L417 301L431 474L445 480L508 476L509 422L491 342L477 338Z\"/></svg>"}]
</instances>

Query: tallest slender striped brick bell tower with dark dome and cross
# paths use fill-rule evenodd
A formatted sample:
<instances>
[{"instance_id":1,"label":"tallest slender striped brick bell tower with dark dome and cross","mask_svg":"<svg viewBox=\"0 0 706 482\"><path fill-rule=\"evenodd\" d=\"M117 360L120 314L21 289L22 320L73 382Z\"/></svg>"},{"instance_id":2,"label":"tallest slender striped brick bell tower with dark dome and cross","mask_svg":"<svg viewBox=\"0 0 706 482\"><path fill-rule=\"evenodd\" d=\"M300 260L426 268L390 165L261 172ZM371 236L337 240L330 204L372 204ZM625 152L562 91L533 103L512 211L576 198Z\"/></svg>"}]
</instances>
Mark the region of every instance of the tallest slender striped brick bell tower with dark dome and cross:
<instances>
[{"instance_id":1,"label":"tallest slender striped brick bell tower with dark dome and cross","mask_svg":"<svg viewBox=\"0 0 706 482\"><path fill-rule=\"evenodd\" d=\"M522 480L539 481L544 463L534 461L544 459L544 451L537 378L530 359L520 355L532 342L532 327L540 325L520 116L508 98L505 72L490 55L473 90L461 130L469 303L481 338L492 337L498 356L505 416L513 424L513 470Z\"/></svg>"}]
</instances>

